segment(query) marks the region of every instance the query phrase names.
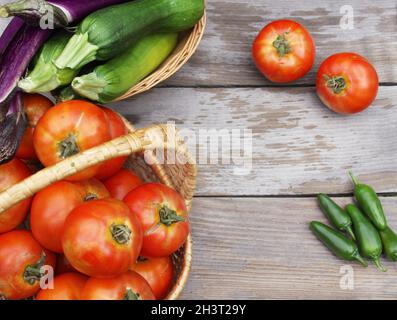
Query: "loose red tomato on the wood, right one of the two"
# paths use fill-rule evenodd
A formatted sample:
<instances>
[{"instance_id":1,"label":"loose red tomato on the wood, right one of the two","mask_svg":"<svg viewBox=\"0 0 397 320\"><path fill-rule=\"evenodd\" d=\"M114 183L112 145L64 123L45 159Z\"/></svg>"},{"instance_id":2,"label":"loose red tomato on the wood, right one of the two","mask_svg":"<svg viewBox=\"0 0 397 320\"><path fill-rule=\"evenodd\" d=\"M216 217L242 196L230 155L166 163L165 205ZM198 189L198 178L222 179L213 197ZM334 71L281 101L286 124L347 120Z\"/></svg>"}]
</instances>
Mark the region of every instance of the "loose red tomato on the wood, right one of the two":
<instances>
[{"instance_id":1,"label":"loose red tomato on the wood, right one of the two","mask_svg":"<svg viewBox=\"0 0 397 320\"><path fill-rule=\"evenodd\" d=\"M353 114L368 108L378 94L375 68L355 53L337 53L326 59L317 74L317 94L331 110Z\"/></svg>"}]
</instances>

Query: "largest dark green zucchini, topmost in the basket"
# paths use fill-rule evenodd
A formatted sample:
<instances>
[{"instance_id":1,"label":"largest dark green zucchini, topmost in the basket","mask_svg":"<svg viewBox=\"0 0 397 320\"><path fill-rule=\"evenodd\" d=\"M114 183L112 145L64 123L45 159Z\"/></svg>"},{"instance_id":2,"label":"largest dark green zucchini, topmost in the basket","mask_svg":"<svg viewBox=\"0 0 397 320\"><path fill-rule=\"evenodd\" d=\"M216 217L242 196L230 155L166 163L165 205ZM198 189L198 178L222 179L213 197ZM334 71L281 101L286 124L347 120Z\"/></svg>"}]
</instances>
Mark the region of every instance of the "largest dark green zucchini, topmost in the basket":
<instances>
[{"instance_id":1,"label":"largest dark green zucchini, topmost in the basket","mask_svg":"<svg viewBox=\"0 0 397 320\"><path fill-rule=\"evenodd\" d=\"M190 29L203 14L204 0L136 0L98 10L80 23L55 64L78 69L109 60L146 35Z\"/></svg>"}]
</instances>

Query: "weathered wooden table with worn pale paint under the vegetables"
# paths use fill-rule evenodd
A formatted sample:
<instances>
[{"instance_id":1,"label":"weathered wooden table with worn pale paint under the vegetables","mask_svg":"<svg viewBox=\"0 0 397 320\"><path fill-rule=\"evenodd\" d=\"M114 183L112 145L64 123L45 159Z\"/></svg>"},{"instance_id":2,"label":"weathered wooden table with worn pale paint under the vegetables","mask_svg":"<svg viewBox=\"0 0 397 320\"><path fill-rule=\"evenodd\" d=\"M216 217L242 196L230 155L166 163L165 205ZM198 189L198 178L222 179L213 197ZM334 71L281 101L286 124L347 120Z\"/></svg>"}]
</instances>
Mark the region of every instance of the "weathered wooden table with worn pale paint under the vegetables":
<instances>
[{"instance_id":1,"label":"weathered wooden table with worn pale paint under the vegetables","mask_svg":"<svg viewBox=\"0 0 397 320\"><path fill-rule=\"evenodd\" d=\"M208 0L206 33L189 63L161 87L117 103L138 127L252 130L251 172L239 175L221 157L199 166L194 261L182 298L397 298L397 264L385 262L387 273L350 269L308 230L309 221L325 221L318 192L351 201L351 169L381 193L397 229L397 3L349 1L352 30L340 27L345 4ZM251 62L257 32L280 18L303 23L318 51L312 72L289 86L267 82ZM382 83L373 107L351 117L326 109L314 87L321 61L342 51L366 56ZM352 272L349 290L341 281Z\"/></svg>"}]
</instances>

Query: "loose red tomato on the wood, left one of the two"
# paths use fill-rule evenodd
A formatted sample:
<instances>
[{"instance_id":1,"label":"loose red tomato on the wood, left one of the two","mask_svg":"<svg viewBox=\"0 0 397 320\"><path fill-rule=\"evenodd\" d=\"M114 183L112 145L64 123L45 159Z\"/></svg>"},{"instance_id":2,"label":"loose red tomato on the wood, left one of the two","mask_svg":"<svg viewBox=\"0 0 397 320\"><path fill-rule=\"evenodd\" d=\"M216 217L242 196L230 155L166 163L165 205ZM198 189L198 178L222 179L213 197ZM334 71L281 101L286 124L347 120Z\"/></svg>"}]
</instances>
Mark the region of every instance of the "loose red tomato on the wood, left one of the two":
<instances>
[{"instance_id":1,"label":"loose red tomato on the wood, left one of the two","mask_svg":"<svg viewBox=\"0 0 397 320\"><path fill-rule=\"evenodd\" d=\"M265 26L256 37L252 56L257 68L272 82L302 78L314 64L316 48L310 33L292 20Z\"/></svg>"}]
</instances>

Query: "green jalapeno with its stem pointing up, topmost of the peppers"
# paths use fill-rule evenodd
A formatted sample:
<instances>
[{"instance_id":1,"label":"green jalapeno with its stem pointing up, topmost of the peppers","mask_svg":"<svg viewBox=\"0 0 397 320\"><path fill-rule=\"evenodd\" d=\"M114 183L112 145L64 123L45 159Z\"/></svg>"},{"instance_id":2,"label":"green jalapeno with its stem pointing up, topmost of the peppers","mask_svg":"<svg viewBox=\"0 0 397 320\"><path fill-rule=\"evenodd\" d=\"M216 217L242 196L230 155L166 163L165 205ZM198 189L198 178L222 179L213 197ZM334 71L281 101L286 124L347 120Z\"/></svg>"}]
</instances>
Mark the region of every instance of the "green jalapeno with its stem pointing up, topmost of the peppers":
<instances>
[{"instance_id":1,"label":"green jalapeno with its stem pointing up, topmost of the peppers","mask_svg":"<svg viewBox=\"0 0 397 320\"><path fill-rule=\"evenodd\" d=\"M364 213L378 230L386 229L387 221L385 214L374 189L368 185L359 183L352 172L349 172L349 174L354 183L354 196Z\"/></svg>"}]
</instances>

